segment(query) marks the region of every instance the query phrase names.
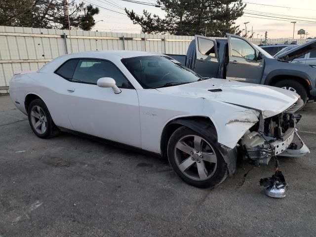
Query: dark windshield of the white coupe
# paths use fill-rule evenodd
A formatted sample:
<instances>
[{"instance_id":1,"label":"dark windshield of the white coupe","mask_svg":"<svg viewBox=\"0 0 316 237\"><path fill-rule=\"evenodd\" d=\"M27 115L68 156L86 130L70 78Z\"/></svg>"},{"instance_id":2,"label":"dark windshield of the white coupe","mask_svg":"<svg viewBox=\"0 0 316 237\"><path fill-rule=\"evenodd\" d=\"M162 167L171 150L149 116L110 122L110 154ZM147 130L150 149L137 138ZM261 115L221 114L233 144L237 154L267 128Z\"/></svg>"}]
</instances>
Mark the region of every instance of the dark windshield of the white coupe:
<instances>
[{"instance_id":1,"label":"dark windshield of the white coupe","mask_svg":"<svg viewBox=\"0 0 316 237\"><path fill-rule=\"evenodd\" d=\"M179 85L201 80L190 69L166 56L140 56L121 60L144 89Z\"/></svg>"}]
</instances>

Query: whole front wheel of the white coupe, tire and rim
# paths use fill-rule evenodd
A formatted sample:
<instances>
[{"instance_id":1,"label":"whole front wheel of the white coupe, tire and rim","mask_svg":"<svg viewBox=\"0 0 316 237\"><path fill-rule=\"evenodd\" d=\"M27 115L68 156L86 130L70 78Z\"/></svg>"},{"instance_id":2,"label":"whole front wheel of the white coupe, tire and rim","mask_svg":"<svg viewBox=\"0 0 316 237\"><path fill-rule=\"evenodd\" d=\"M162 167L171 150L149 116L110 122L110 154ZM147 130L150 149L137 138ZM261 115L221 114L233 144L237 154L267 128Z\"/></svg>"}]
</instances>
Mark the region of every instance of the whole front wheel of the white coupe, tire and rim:
<instances>
[{"instance_id":1,"label":"whole front wheel of the white coupe, tire and rim","mask_svg":"<svg viewBox=\"0 0 316 237\"><path fill-rule=\"evenodd\" d=\"M210 129L209 137L204 137L188 127L180 127L171 135L167 149L171 167L190 185L214 187L227 177L215 129Z\"/></svg>"}]
</instances>

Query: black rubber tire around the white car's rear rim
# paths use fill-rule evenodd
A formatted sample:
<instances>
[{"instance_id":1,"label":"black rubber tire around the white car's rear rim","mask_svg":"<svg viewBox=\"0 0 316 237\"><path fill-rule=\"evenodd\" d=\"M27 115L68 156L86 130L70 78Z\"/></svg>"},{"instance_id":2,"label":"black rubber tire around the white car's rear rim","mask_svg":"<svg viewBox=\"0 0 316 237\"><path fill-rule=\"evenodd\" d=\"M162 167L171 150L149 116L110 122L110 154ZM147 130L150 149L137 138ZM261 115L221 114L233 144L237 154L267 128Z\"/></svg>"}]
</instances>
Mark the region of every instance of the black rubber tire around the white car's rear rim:
<instances>
[{"instance_id":1,"label":"black rubber tire around the white car's rear rim","mask_svg":"<svg viewBox=\"0 0 316 237\"><path fill-rule=\"evenodd\" d=\"M37 108L37 107L40 107L41 113L43 113L43 115L46 118L45 119L46 120L46 122L45 122L46 129L43 133L38 132L32 123L31 113L32 113L32 110L34 108ZM54 124L45 103L41 99L33 100L30 103L30 105L28 107L28 118L29 118L29 123L30 123L30 126L31 126L33 132L35 133L35 135L37 135L40 138L50 138L50 137L53 137L59 133L59 130L56 127L56 125Z\"/></svg>"}]
</instances>

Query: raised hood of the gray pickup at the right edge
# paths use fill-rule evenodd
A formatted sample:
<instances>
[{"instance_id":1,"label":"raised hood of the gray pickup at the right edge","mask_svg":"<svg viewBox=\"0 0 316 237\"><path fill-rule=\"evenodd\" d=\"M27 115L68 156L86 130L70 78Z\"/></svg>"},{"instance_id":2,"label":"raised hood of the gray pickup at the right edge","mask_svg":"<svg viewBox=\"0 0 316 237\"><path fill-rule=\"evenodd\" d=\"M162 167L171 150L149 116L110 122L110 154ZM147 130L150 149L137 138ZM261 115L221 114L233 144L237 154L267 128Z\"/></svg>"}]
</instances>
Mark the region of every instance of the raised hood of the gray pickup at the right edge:
<instances>
[{"instance_id":1,"label":"raised hood of the gray pickup at the right edge","mask_svg":"<svg viewBox=\"0 0 316 237\"><path fill-rule=\"evenodd\" d=\"M281 53L280 55L277 55L276 58L290 62L293 59L300 57L306 53L309 53L315 49L316 49L316 40L311 40L311 41L304 43L302 45L299 45L299 46L297 46L289 51Z\"/></svg>"}]
</instances>

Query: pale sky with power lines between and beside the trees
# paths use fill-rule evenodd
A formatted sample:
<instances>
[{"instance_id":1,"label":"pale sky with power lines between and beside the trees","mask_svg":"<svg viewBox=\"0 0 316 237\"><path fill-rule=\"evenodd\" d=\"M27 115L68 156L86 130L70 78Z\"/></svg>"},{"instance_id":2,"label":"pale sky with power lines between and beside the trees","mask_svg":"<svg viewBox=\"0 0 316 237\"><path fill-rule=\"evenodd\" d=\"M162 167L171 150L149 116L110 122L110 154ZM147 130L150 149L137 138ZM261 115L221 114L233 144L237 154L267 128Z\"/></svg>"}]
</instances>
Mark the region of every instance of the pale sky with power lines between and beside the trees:
<instances>
[{"instance_id":1,"label":"pale sky with power lines between and beside the trees","mask_svg":"<svg viewBox=\"0 0 316 237\"><path fill-rule=\"evenodd\" d=\"M156 0L138 1L156 3ZM142 15L144 9L160 17L165 15L161 8L123 0L84 0L84 2L99 6L100 13L95 17L97 23L93 28L93 30L98 31L140 33L141 27L139 25L134 25L126 14L120 14L124 13L124 7L129 10L133 9L139 15ZM293 23L291 21L297 22L295 24L294 39L300 38L297 35L299 29L304 29L309 34L307 37L316 37L316 0L243 0L243 2L247 2L245 13L236 20L236 25L239 25L239 29L242 30L245 28L243 23L249 22L247 30L251 31L251 28L253 28L254 38L261 38L261 35L264 38L266 31L270 39L292 38ZM271 18L268 16L279 18L263 19ZM311 23L303 21L310 21Z\"/></svg>"}]
</instances>

